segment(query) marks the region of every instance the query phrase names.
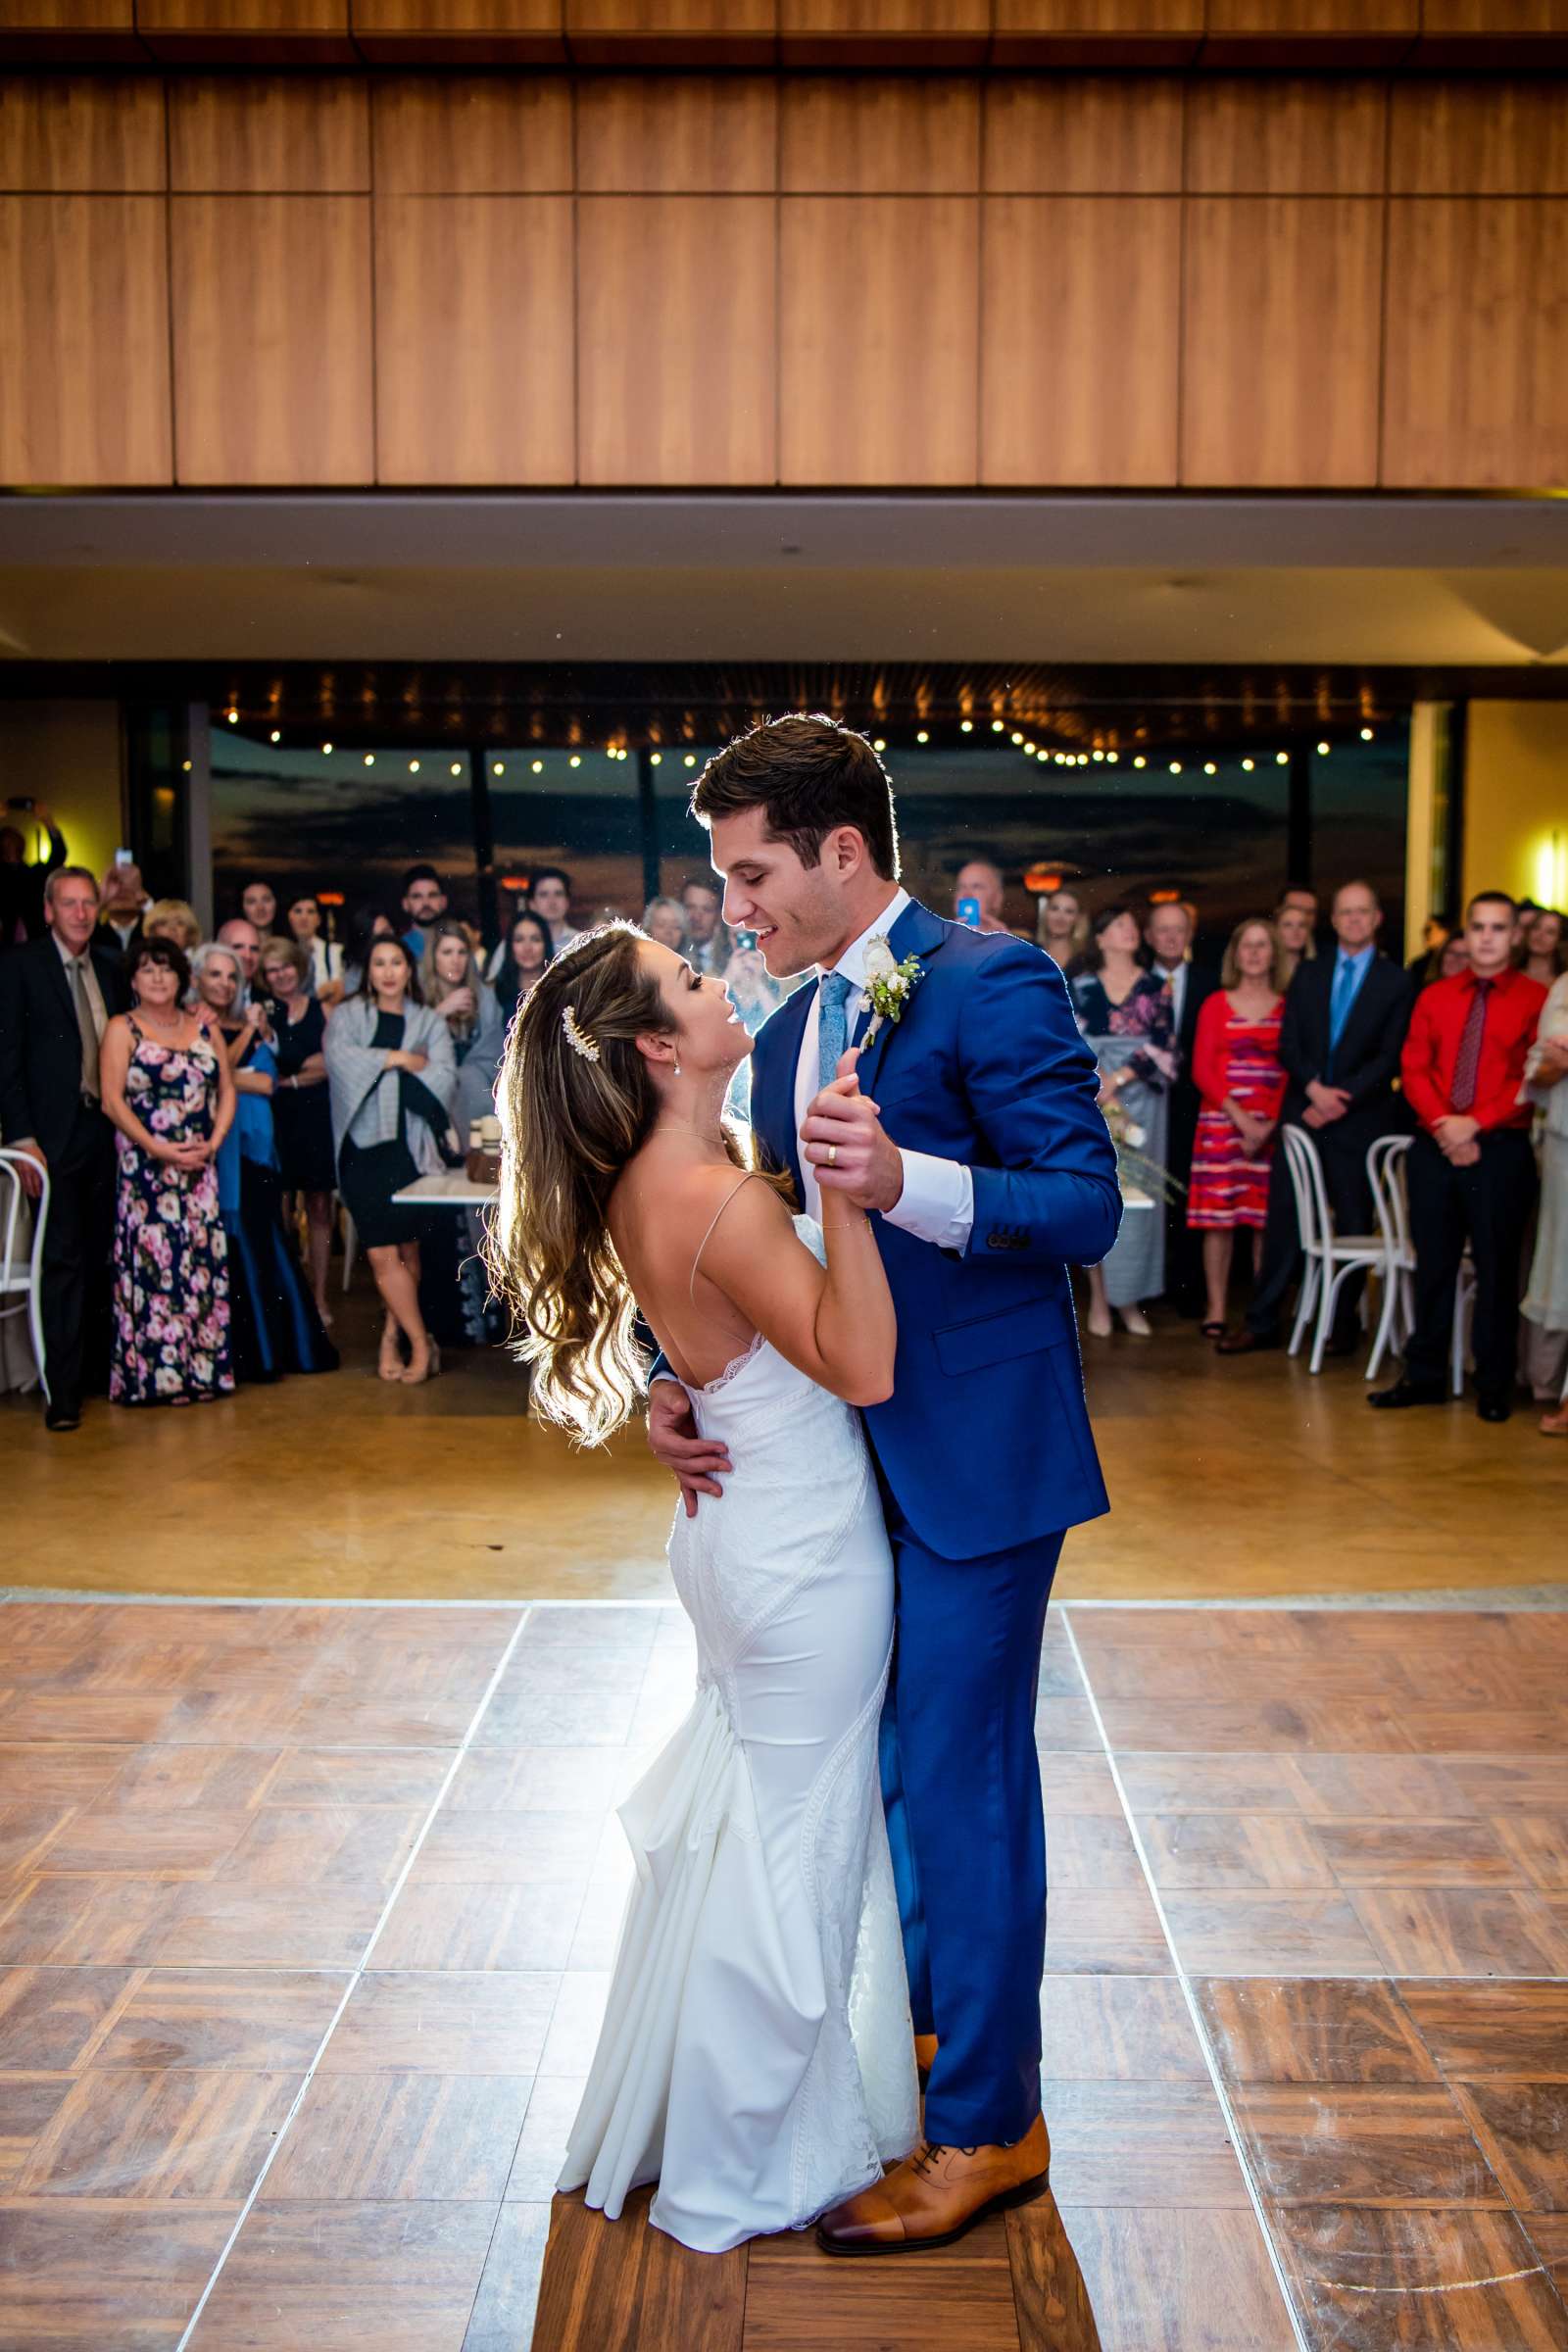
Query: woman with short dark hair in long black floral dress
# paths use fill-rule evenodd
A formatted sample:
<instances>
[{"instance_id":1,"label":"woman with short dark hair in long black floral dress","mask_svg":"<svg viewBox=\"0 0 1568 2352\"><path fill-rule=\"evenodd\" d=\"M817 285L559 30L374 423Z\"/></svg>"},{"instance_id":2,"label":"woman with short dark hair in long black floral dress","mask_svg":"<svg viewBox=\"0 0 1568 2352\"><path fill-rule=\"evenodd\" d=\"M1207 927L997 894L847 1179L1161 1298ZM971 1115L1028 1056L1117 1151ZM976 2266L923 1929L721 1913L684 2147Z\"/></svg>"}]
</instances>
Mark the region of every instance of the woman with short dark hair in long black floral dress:
<instances>
[{"instance_id":1,"label":"woman with short dark hair in long black floral dress","mask_svg":"<svg viewBox=\"0 0 1568 2352\"><path fill-rule=\"evenodd\" d=\"M103 1110L120 1129L110 1404L200 1404L235 1385L219 1143L235 1115L228 1058L183 1011L190 964L169 938L129 955L136 1011L103 1030Z\"/></svg>"}]
</instances>

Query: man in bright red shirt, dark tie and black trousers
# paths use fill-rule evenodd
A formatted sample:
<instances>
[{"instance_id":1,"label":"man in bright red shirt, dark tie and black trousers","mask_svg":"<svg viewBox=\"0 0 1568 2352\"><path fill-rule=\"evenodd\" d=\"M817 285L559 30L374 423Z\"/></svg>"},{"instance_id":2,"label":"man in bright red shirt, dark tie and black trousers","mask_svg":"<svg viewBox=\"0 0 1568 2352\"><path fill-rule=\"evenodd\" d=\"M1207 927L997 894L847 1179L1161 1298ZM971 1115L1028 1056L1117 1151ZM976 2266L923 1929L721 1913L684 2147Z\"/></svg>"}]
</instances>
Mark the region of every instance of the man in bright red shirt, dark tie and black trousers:
<instances>
[{"instance_id":1,"label":"man in bright red shirt, dark tie and black trousers","mask_svg":"<svg viewBox=\"0 0 1568 2352\"><path fill-rule=\"evenodd\" d=\"M1465 1237L1476 1265L1472 1352L1481 1421L1507 1421L1519 1348L1519 1244L1535 1202L1526 1056L1547 990L1514 969L1514 901L1465 908L1469 971L1422 988L1401 1073L1420 1134L1410 1145L1415 1329L1406 1369L1368 1404L1443 1404L1453 1284Z\"/></svg>"}]
</instances>

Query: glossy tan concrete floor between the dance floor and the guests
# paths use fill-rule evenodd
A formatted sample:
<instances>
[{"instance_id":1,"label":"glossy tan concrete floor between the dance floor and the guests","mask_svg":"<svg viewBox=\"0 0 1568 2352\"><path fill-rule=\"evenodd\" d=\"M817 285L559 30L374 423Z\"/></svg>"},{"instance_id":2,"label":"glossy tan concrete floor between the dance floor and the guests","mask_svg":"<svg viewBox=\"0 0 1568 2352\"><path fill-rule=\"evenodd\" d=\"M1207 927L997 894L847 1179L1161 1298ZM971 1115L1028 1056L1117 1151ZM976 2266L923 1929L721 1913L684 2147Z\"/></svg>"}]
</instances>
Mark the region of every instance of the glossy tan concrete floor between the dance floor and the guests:
<instances>
[{"instance_id":1,"label":"glossy tan concrete floor between the dance floor and the guests","mask_svg":"<svg viewBox=\"0 0 1568 2352\"><path fill-rule=\"evenodd\" d=\"M190 1411L89 1406L45 1439L0 1399L0 1581L78 1592L310 1599L663 1599L670 1486L639 1432L574 1454L524 1416L498 1352L428 1388L374 1378L364 1289L343 1371ZM1521 1409L1366 1409L1354 1362L1220 1362L1192 1324L1086 1341L1114 1510L1058 1592L1225 1599L1568 1578L1568 1444Z\"/></svg>"}]
</instances>

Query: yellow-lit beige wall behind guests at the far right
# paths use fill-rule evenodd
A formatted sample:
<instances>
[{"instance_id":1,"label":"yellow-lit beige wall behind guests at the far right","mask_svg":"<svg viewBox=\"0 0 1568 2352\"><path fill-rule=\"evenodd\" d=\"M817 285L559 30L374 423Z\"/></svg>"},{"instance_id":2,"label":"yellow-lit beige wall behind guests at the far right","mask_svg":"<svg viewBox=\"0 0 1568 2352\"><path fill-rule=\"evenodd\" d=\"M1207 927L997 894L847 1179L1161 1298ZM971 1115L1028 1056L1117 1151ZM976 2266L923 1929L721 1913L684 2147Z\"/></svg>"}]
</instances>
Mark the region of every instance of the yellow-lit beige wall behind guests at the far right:
<instances>
[{"instance_id":1,"label":"yellow-lit beige wall behind guests at the far right","mask_svg":"<svg viewBox=\"0 0 1568 2352\"><path fill-rule=\"evenodd\" d=\"M1465 891L1568 906L1568 706L1472 703Z\"/></svg>"}]
</instances>

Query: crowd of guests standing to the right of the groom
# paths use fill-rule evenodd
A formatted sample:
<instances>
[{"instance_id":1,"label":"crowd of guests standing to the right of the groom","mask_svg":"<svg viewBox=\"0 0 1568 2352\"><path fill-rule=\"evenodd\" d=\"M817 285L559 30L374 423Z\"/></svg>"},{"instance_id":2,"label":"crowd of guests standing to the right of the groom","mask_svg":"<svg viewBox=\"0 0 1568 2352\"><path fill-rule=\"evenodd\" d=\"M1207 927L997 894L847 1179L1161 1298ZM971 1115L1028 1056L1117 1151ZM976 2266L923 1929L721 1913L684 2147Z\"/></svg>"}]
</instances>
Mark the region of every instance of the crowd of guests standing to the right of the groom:
<instances>
[{"instance_id":1,"label":"crowd of guests standing to the right of the groom","mask_svg":"<svg viewBox=\"0 0 1568 2352\"><path fill-rule=\"evenodd\" d=\"M1368 1402L1446 1402L1469 1249L1481 1418L1505 1421L1523 1383L1547 1406L1540 1428L1568 1435L1563 917L1481 891L1462 922L1427 922L1408 967L1380 948L1371 884L1345 882L1328 920L1333 943L1319 941L1316 894L1286 891L1237 924L1213 971L1192 960L1190 903L1103 906L1091 920L1074 889L1041 901L1039 941L1067 976L1100 1101L1168 1188L1166 1214L1128 1214L1088 1270L1088 1331L1107 1338L1119 1317L1147 1336L1145 1305L1168 1291L1222 1357L1279 1348L1302 1270L1281 1127L1312 1136L1342 1235L1375 1230L1368 1148L1408 1136L1415 1324L1401 1376ZM1237 1232L1251 1296L1229 1329ZM1361 1284L1352 1275L1338 1291L1328 1352L1361 1345Z\"/></svg>"}]
</instances>

